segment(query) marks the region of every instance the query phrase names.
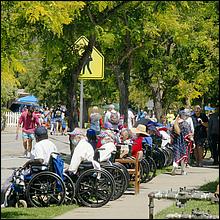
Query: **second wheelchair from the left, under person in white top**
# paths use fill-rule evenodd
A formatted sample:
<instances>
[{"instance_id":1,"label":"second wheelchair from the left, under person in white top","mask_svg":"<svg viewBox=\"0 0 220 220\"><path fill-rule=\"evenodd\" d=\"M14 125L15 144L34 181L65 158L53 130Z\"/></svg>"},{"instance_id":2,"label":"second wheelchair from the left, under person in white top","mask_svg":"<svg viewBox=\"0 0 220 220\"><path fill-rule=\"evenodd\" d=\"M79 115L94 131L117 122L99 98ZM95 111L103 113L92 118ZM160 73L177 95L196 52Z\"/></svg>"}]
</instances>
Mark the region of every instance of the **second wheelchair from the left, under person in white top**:
<instances>
[{"instance_id":1,"label":"second wheelchair from the left, under person in white top","mask_svg":"<svg viewBox=\"0 0 220 220\"><path fill-rule=\"evenodd\" d=\"M92 208L118 199L128 186L125 171L120 165L112 163L111 159L100 162L100 150L104 149L95 150L94 160L100 163L101 170L94 169L91 161L83 161L76 174L67 171L67 175L76 185L77 202Z\"/></svg>"}]
</instances>

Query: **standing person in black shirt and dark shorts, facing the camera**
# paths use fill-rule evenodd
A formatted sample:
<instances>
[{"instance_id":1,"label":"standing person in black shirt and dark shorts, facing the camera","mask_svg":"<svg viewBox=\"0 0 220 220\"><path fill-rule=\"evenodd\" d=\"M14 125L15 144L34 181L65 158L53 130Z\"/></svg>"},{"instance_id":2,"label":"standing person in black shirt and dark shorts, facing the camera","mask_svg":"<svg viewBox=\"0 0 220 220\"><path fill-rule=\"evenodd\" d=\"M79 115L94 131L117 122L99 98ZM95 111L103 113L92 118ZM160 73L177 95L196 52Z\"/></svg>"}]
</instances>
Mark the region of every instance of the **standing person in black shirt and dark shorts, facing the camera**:
<instances>
[{"instance_id":1,"label":"standing person in black shirt and dark shorts, facing the camera","mask_svg":"<svg viewBox=\"0 0 220 220\"><path fill-rule=\"evenodd\" d=\"M207 138L208 117L205 113L202 113L202 109L199 105L196 105L194 107L192 120L194 125L194 156L196 159L196 166L202 167L203 144Z\"/></svg>"}]
</instances>

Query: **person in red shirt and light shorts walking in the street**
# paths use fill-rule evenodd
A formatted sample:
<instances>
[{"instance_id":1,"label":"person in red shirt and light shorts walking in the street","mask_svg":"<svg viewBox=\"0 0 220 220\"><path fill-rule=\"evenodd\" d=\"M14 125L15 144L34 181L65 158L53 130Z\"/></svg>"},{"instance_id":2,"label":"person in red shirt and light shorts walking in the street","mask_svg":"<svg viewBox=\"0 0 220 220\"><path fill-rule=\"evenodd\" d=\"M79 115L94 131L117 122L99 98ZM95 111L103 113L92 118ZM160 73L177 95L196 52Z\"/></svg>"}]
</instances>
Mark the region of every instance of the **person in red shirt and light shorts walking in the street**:
<instances>
[{"instance_id":1,"label":"person in red shirt and light shorts walking in the street","mask_svg":"<svg viewBox=\"0 0 220 220\"><path fill-rule=\"evenodd\" d=\"M19 120L16 130L16 139L18 139L19 128L22 125L22 139L24 146L24 155L28 158L31 156L32 141L34 140L34 130L36 126L40 126L39 118L34 115L34 107L28 106L27 111L24 111Z\"/></svg>"}]
</instances>

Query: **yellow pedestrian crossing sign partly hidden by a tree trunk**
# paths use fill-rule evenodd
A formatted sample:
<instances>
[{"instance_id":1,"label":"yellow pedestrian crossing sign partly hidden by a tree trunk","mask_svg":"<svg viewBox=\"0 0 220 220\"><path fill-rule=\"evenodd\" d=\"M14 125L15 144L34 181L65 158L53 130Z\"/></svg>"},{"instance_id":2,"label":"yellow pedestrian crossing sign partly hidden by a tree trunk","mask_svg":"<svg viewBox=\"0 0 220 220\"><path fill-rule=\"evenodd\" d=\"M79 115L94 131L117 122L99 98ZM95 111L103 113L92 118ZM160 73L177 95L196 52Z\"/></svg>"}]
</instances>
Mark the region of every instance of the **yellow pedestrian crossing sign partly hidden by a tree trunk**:
<instances>
[{"instance_id":1,"label":"yellow pedestrian crossing sign partly hidden by a tree trunk","mask_svg":"<svg viewBox=\"0 0 220 220\"><path fill-rule=\"evenodd\" d=\"M75 42L75 48L82 55L84 47L88 45L89 40L81 36ZM91 56L86 60L80 72L79 79L103 79L104 78L104 56L93 47Z\"/></svg>"}]
</instances>

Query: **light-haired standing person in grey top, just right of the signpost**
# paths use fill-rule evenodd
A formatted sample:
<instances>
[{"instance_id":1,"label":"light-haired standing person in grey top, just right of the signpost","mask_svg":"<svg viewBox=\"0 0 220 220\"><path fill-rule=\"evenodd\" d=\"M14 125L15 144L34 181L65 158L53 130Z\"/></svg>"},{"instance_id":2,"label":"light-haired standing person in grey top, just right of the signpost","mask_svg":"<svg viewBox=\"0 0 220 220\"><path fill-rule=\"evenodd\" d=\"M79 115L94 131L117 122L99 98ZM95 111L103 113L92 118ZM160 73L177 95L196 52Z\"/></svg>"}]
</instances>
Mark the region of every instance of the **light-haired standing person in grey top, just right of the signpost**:
<instances>
[{"instance_id":1,"label":"light-haired standing person in grey top, just right of the signpost","mask_svg":"<svg viewBox=\"0 0 220 220\"><path fill-rule=\"evenodd\" d=\"M102 116L99 113L99 108L94 106L90 114L90 129L95 130L96 135L99 135L102 127Z\"/></svg>"}]
</instances>

